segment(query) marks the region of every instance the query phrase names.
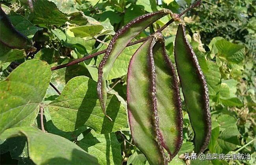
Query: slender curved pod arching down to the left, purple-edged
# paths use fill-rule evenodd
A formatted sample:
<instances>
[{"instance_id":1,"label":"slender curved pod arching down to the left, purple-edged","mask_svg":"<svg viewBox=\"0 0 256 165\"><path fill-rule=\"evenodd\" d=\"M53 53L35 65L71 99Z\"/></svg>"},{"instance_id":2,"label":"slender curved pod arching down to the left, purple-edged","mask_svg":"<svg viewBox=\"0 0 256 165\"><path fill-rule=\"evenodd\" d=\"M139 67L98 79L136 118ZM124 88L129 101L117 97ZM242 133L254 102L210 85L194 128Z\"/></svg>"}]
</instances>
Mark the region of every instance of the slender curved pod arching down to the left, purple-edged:
<instances>
[{"instance_id":1,"label":"slender curved pod arching down to the left, purple-edged","mask_svg":"<svg viewBox=\"0 0 256 165\"><path fill-rule=\"evenodd\" d=\"M106 114L106 78L109 71L111 70L115 60L123 51L123 49L128 45L128 43L141 33L144 29L154 23L156 20L162 18L163 16L170 14L171 11L164 9L154 13L148 13L142 16L139 16L129 22L126 26L122 27L109 43L106 54L102 61L100 62L98 68L98 85L97 91L100 99L100 105L102 111Z\"/></svg>"}]
</instances>

